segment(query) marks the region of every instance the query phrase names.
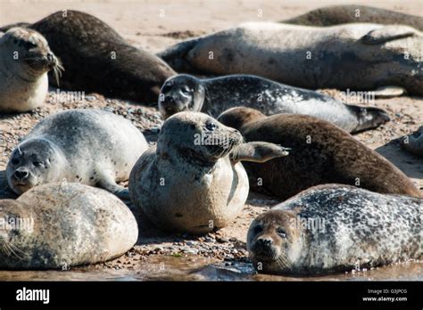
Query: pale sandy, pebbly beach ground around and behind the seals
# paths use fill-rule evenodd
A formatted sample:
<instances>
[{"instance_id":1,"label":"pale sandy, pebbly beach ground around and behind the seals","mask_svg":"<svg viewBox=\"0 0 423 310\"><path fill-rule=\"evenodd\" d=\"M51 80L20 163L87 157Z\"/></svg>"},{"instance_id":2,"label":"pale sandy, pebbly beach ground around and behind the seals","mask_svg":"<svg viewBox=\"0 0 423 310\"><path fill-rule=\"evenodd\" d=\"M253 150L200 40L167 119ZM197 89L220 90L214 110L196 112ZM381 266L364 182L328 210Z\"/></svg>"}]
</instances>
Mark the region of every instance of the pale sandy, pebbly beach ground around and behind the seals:
<instances>
[{"instance_id":1,"label":"pale sandy, pebbly beach ground around and behind the seals","mask_svg":"<svg viewBox=\"0 0 423 310\"><path fill-rule=\"evenodd\" d=\"M274 1L274 0L250 0L250 1L173 1L173 0L145 0L145 1L0 1L0 25L17 22L33 22L45 17L47 14L62 9L74 9L94 14L104 20L123 37L126 37L133 45L144 48L151 53L157 53L162 49L176 44L187 37L201 36L212 31L218 31L244 21L262 20L278 21L286 20L311 9L326 4L367 4L398 12L412 13L423 16L423 1ZM262 17L258 17L261 10ZM164 16L163 16L164 14ZM54 89L51 90L55 92ZM339 96L336 90L323 90L323 92ZM371 105L386 109L391 122L359 135L355 135L362 143L377 150L394 165L402 169L412 180L418 184L423 192L423 159L412 156L402 149L397 139L410 134L423 124L423 98L421 97L398 97L394 99L377 100ZM366 104L365 104L366 105ZM145 132L150 141L154 141L158 126L162 125L160 114L154 108L144 108L127 102L106 99L101 95L87 96L80 102L60 102L57 94L52 94L46 99L46 106L30 113L0 117L1 151L4 156L0 160L0 168L4 169L8 156L19 138L26 135L30 128L39 119L58 110L92 108L110 110L131 119L136 126ZM238 216L236 222L219 232L211 233L205 237L193 237L188 235L170 235L160 232L151 224L138 217L140 224L140 236L137 246L129 253L112 262L95 267L76 269L67 276L58 273L0 273L0 280L8 279L117 279L125 274L128 279L146 279L145 268L153 266L163 260L171 260L166 264L172 266L164 269L164 273L173 275L168 277L163 273L155 279L197 279L187 276L192 268L201 265L206 268L205 279L214 279L207 265L220 264L230 265L236 263L248 263L245 250L245 237L249 224L255 216L269 209L278 200L251 193L245 209ZM129 207L130 204L129 204ZM136 210L134 210L136 212ZM154 258L155 257L155 258ZM164 258L167 257L167 258ZM178 260L178 257L184 258ZM156 260L154 260L156 259ZM172 260L173 259L173 260ZM175 260L177 259L177 263ZM205 260L204 260L205 259ZM148 263L150 262L150 263ZM181 263L182 262L182 263ZM193 263L196 262L196 265ZM191 269L187 266L192 265ZM363 279L411 279L423 278L421 264L410 266L386 267L385 272L373 272L364 274ZM391 268L391 269L390 269ZM393 269L394 268L394 271ZM398 269L399 268L399 269ZM179 269L183 270L180 271ZM187 270L186 270L187 269ZM122 271L123 273L119 273ZM162 270L159 268L159 270ZM94 275L89 272L95 272ZM118 271L117 275L114 272ZM82 273L82 276L80 274ZM112 274L113 272L113 274ZM216 270L213 269L213 274ZM252 273L247 272L247 273ZM54 275L55 274L55 275ZM86 274L86 278L84 278ZM128 275L129 274L129 275ZM140 275L141 274L141 275ZM151 276L151 273L148 272ZM153 273L155 274L155 273ZM176 274L176 275L175 275ZM341 277L350 279L352 277ZM201 277L199 279L202 279ZM218 277L218 279L220 279ZM225 279L225 277L221 278ZM228 279L232 279L228 277ZM235 276L235 279L243 279ZM255 277L255 280L282 280L275 277ZM319 278L318 280L324 280ZM326 278L334 279L334 278ZM335 278L339 279L339 278ZM286 278L285 278L286 280ZM294 280L294 279L287 279Z\"/></svg>"}]
</instances>

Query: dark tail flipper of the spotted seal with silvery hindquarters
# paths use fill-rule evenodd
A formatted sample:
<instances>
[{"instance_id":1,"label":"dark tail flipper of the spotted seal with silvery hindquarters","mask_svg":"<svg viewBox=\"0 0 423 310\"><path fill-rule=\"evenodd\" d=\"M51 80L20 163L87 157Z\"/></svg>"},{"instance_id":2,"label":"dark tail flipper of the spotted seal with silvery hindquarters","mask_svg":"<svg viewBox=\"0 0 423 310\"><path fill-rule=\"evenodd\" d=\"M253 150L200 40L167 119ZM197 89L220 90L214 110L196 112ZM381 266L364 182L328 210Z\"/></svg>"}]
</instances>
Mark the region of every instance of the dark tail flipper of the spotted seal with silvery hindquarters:
<instances>
[{"instance_id":1,"label":"dark tail flipper of the spotted seal with silvery hindquarters","mask_svg":"<svg viewBox=\"0 0 423 310\"><path fill-rule=\"evenodd\" d=\"M374 107L359 107L357 105L349 105L348 107L357 117L357 126L352 130L352 133L376 128L391 120L386 110Z\"/></svg>"}]
</instances>

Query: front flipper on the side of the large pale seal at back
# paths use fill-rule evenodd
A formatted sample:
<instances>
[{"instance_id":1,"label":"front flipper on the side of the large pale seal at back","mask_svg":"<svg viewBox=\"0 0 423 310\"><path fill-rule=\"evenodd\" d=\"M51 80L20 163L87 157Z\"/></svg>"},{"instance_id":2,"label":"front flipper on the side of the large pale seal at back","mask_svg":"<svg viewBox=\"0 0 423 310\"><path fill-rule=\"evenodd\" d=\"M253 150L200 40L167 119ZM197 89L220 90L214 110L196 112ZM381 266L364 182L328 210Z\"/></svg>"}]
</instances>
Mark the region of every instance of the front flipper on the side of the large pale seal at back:
<instances>
[{"instance_id":1,"label":"front flipper on the side of the large pale seal at back","mask_svg":"<svg viewBox=\"0 0 423 310\"><path fill-rule=\"evenodd\" d=\"M389 25L381 29L369 31L369 33L361 37L361 42L365 45L380 45L389 41L394 41L404 37L418 36L419 32L408 26Z\"/></svg>"}]
</instances>

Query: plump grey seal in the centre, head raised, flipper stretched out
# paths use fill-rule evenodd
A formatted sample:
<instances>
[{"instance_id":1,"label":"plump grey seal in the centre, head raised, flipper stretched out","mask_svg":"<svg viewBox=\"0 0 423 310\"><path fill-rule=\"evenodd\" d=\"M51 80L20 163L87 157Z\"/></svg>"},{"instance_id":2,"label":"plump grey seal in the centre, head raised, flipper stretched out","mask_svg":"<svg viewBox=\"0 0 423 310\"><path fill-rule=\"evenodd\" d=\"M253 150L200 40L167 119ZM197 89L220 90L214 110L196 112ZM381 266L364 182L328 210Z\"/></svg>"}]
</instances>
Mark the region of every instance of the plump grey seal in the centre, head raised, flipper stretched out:
<instances>
[{"instance_id":1,"label":"plump grey seal in the centre, head raised, flipper stretched out","mask_svg":"<svg viewBox=\"0 0 423 310\"><path fill-rule=\"evenodd\" d=\"M236 129L199 112L168 118L157 146L129 176L132 203L157 227L201 234L233 222L247 199L240 160L263 162L287 151L271 143L242 143Z\"/></svg>"}]
</instances>

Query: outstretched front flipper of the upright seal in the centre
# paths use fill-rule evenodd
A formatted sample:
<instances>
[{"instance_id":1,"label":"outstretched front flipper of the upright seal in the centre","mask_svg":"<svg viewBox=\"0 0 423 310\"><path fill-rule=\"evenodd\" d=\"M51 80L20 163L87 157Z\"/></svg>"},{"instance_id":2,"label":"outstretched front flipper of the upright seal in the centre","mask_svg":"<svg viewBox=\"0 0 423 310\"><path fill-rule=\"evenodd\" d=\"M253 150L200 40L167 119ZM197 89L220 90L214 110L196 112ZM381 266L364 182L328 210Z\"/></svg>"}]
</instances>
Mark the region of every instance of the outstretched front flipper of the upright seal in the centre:
<instances>
[{"instance_id":1,"label":"outstretched front flipper of the upright seal in the centre","mask_svg":"<svg viewBox=\"0 0 423 310\"><path fill-rule=\"evenodd\" d=\"M229 157L234 163L241 160L266 162L270 159L287 156L289 154L288 150L291 149L273 143L243 143L237 146L236 149L229 154Z\"/></svg>"}]
</instances>

